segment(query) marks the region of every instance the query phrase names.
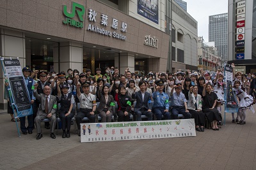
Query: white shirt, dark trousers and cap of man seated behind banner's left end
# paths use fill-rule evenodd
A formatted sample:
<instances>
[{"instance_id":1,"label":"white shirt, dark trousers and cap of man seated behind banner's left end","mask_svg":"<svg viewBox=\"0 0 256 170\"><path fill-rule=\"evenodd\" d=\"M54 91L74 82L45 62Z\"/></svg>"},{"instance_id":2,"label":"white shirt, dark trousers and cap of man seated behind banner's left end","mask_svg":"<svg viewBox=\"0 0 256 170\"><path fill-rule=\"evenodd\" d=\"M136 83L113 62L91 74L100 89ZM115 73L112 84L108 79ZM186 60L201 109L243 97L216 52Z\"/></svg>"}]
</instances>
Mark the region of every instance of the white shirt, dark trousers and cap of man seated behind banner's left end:
<instances>
[{"instance_id":1,"label":"white shirt, dark trousers and cap of man seated behind banner's left end","mask_svg":"<svg viewBox=\"0 0 256 170\"><path fill-rule=\"evenodd\" d=\"M83 83L82 87L90 87L90 83L85 82ZM77 96L78 97L78 96ZM78 97L80 101L80 109L77 111L77 116L76 116L76 123L77 123L77 128L80 130L80 124L81 120L84 117L88 117L91 123L95 123L95 114L91 115L90 112L92 112L93 106L96 106L96 97L93 94L81 94Z\"/></svg>"}]
</instances>

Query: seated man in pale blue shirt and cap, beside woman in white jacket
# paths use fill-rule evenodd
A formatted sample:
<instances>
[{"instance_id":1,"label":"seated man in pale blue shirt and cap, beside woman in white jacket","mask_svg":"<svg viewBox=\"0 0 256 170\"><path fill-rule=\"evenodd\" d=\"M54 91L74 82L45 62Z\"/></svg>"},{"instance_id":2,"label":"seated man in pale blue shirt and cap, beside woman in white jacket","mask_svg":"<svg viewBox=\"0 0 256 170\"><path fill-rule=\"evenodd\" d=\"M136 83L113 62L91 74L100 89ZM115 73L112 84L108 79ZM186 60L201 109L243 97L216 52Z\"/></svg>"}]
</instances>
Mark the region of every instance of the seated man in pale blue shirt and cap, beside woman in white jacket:
<instances>
[{"instance_id":1,"label":"seated man in pale blue shirt and cap, beside woman in white jacket","mask_svg":"<svg viewBox=\"0 0 256 170\"><path fill-rule=\"evenodd\" d=\"M175 92L173 93L173 90ZM170 99L172 101L172 118L177 119L179 114L182 114L184 118L191 118L191 114L188 111L187 99L181 92L182 84L177 83L173 85L173 89L170 92Z\"/></svg>"}]
</instances>

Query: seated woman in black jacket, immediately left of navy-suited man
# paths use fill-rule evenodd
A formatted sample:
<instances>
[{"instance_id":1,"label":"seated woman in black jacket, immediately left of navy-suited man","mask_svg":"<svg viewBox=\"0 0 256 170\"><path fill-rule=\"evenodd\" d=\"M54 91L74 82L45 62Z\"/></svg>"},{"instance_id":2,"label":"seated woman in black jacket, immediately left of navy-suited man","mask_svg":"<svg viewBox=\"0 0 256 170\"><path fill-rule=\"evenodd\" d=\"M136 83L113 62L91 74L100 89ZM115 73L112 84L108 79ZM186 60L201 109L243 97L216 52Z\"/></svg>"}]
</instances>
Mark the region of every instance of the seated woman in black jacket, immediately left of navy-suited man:
<instances>
[{"instance_id":1,"label":"seated woman in black jacket, immediately left of navy-suited man","mask_svg":"<svg viewBox=\"0 0 256 170\"><path fill-rule=\"evenodd\" d=\"M118 122L129 122L131 115L131 97L126 95L124 85L121 85L119 90L116 89L115 101L118 104L116 113Z\"/></svg>"}]
</instances>

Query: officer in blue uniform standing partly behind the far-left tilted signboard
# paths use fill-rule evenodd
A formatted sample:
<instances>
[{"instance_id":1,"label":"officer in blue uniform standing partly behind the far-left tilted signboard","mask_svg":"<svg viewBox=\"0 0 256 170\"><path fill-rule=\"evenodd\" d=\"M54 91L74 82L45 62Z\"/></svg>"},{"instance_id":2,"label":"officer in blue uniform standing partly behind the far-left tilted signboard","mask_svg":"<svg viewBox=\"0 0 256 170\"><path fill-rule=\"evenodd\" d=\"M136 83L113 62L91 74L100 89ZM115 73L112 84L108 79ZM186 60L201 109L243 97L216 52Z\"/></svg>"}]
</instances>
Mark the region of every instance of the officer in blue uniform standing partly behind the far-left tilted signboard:
<instances>
[{"instance_id":1,"label":"officer in blue uniform standing partly behind the far-left tilted signboard","mask_svg":"<svg viewBox=\"0 0 256 170\"><path fill-rule=\"evenodd\" d=\"M33 96L33 85L35 83L34 83L33 78L29 77L30 72L31 72L31 69L29 69L29 67L24 67L22 69L22 73L24 75L24 80L25 80L25 83L28 87L28 92L29 92L29 96L30 96L30 99L31 99L31 104L33 104L35 99L36 99ZM26 117L20 117L20 130L22 131L22 134L28 134L28 133L32 134L32 131L34 129L33 128L33 114L28 115L28 127L26 127L25 123L26 123Z\"/></svg>"}]
</instances>

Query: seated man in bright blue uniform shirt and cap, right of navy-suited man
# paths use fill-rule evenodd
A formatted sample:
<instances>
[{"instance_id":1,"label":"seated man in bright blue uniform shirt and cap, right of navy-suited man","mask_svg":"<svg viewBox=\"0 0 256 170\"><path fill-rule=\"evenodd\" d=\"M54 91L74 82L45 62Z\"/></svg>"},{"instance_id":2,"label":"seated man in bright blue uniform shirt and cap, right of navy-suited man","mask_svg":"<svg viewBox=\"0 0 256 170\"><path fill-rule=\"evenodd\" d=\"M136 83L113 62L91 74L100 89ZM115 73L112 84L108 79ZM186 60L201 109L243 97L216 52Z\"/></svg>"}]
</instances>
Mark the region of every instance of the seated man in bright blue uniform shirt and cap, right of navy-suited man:
<instances>
[{"instance_id":1,"label":"seated man in bright blue uniform shirt and cap, right of navy-suited man","mask_svg":"<svg viewBox=\"0 0 256 170\"><path fill-rule=\"evenodd\" d=\"M164 81L158 80L156 85L156 92L152 94L154 99L153 113L156 115L157 120L162 120L162 115L164 115L166 120L170 120L169 96L163 92Z\"/></svg>"}]
</instances>

